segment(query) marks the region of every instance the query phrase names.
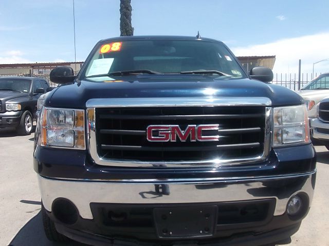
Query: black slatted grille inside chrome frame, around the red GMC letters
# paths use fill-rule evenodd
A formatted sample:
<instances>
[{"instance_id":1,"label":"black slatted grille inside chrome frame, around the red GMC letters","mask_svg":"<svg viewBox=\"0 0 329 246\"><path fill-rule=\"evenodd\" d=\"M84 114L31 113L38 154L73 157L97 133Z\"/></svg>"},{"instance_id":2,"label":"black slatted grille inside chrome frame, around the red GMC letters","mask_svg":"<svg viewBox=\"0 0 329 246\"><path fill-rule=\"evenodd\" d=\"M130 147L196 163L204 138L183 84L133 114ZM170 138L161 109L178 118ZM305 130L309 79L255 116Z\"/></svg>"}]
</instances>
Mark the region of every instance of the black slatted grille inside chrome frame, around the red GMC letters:
<instances>
[{"instance_id":1,"label":"black slatted grille inside chrome frame, around the red GMC letters","mask_svg":"<svg viewBox=\"0 0 329 246\"><path fill-rule=\"evenodd\" d=\"M124 107L96 108L96 142L102 160L134 161L206 161L212 159L250 159L263 156L265 145L265 106L213 107ZM219 135L218 141L150 142L150 125L218 125L220 130L204 131ZM159 136L159 131L153 131Z\"/></svg>"}]
</instances>

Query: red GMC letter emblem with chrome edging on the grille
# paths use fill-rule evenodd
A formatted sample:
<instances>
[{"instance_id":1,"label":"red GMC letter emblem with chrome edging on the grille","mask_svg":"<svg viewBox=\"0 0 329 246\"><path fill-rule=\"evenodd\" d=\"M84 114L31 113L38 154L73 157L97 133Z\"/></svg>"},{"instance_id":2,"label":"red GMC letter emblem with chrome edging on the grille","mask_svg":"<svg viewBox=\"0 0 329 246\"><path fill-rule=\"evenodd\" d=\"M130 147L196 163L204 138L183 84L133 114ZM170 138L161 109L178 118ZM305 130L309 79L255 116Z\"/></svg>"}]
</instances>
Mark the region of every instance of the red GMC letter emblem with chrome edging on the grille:
<instances>
[{"instance_id":1,"label":"red GMC letter emblem with chrome edging on the grille","mask_svg":"<svg viewBox=\"0 0 329 246\"><path fill-rule=\"evenodd\" d=\"M148 126L147 139L150 142L176 142L179 139L185 142L188 138L190 141L218 141L220 136L206 135L206 131L217 130L219 125L188 125L185 130L181 130L178 125L157 125ZM155 134L158 132L158 134Z\"/></svg>"}]
</instances>

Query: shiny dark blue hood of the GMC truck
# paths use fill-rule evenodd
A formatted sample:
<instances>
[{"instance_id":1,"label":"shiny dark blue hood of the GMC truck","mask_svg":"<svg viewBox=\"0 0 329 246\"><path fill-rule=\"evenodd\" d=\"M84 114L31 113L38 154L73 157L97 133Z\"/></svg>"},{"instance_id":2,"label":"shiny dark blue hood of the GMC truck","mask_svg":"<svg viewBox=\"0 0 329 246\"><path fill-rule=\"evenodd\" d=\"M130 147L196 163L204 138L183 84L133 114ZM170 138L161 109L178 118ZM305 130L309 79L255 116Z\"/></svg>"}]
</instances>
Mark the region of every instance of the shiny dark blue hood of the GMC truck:
<instances>
[{"instance_id":1,"label":"shiny dark blue hood of the GMC truck","mask_svg":"<svg viewBox=\"0 0 329 246\"><path fill-rule=\"evenodd\" d=\"M273 106L298 105L303 99L281 86L252 79L231 79L207 75L138 75L97 78L102 81L82 80L62 85L51 93L46 106L85 108L92 98L142 97L268 97ZM96 78L95 78L96 80Z\"/></svg>"}]
</instances>

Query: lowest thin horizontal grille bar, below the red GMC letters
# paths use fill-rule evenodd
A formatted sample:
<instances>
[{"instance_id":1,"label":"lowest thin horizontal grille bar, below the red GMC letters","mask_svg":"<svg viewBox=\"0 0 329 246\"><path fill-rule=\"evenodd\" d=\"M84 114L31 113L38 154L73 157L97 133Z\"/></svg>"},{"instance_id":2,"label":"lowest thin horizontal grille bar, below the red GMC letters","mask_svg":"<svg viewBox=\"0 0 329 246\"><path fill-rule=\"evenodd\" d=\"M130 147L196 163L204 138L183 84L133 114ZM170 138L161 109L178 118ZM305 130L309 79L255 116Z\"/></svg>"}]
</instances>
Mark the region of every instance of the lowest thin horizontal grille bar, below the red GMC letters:
<instances>
[{"instance_id":1,"label":"lowest thin horizontal grille bar, below the red GMC letters","mask_svg":"<svg viewBox=\"0 0 329 246\"><path fill-rule=\"evenodd\" d=\"M101 148L103 150L139 150L139 151L213 151L213 150L257 148L259 146L260 146L259 142L250 142L248 144L216 145L216 146L200 146L200 147L145 147L145 146L102 145Z\"/></svg>"}]
</instances>

